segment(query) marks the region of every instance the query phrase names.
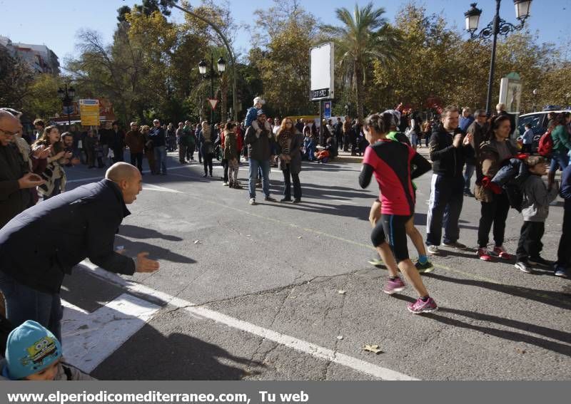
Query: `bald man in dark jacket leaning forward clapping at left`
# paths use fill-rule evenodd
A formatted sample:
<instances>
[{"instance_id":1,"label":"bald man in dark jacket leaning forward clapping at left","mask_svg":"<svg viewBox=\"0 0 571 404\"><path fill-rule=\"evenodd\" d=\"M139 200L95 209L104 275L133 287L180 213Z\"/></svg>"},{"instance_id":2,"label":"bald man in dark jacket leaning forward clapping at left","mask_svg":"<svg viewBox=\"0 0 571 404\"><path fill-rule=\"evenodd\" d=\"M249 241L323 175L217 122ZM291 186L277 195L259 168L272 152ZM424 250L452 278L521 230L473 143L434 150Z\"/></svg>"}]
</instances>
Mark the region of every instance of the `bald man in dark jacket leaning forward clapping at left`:
<instances>
[{"instance_id":1,"label":"bald man in dark jacket leaning forward clapping at left","mask_svg":"<svg viewBox=\"0 0 571 404\"><path fill-rule=\"evenodd\" d=\"M36 204L0 229L0 290L14 326L34 320L61 338L61 282L86 258L116 274L158 269L147 252L131 259L113 249L141 189L137 168L117 162L105 179Z\"/></svg>"}]
</instances>

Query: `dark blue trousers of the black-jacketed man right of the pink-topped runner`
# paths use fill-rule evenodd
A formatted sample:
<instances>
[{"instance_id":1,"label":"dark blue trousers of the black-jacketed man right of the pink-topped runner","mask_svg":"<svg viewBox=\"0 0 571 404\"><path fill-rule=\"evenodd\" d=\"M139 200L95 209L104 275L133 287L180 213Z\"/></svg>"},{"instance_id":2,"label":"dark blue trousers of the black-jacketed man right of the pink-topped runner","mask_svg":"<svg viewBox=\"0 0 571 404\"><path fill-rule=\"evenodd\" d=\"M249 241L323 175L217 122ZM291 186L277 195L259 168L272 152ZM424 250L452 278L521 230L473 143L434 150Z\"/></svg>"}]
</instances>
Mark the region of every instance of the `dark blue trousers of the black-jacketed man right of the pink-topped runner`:
<instances>
[{"instance_id":1,"label":"dark blue trousers of the black-jacketed man right of the pink-topped runner","mask_svg":"<svg viewBox=\"0 0 571 404\"><path fill-rule=\"evenodd\" d=\"M433 174L430 182L430 205L426 218L426 245L440 245L444 223L444 242L460 238L460 212L464 202L464 178L447 178Z\"/></svg>"}]
</instances>

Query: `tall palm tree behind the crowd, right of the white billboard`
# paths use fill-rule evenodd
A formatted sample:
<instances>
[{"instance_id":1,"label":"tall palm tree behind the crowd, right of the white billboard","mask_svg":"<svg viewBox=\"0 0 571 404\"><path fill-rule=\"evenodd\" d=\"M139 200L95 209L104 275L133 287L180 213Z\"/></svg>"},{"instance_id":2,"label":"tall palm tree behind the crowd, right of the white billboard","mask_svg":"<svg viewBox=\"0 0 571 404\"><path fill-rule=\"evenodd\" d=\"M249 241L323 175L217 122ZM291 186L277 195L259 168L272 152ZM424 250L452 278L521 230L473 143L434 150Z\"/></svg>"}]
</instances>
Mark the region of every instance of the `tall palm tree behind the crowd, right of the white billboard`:
<instances>
[{"instance_id":1,"label":"tall palm tree behind the crowd, right of the white billboard","mask_svg":"<svg viewBox=\"0 0 571 404\"><path fill-rule=\"evenodd\" d=\"M324 33L333 37L338 66L343 81L355 90L358 118L363 118L363 86L373 60L380 63L394 61L398 56L398 33L383 18L385 9L373 9L373 3L359 9L355 4L353 14L345 7L336 9L342 26L322 26Z\"/></svg>"}]
</instances>

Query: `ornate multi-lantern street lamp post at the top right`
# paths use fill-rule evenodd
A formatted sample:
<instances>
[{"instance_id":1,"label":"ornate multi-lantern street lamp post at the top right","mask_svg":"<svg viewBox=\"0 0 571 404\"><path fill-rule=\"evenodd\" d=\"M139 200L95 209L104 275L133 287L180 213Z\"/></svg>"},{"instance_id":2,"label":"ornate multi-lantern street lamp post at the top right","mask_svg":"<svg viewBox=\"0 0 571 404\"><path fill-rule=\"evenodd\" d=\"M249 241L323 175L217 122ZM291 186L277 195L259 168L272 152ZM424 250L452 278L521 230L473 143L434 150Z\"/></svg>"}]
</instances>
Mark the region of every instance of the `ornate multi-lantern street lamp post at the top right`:
<instances>
[{"instance_id":1,"label":"ornate multi-lantern street lamp post at the top right","mask_svg":"<svg viewBox=\"0 0 571 404\"><path fill-rule=\"evenodd\" d=\"M497 35L507 36L510 32L520 31L524 24L525 19L530 16L530 8L532 0L513 0L515 6L515 16L520 20L520 24L513 25L500 18L500 3L502 0L495 0L495 16L490 24L487 24L480 33L475 33L477 25L480 21L481 9L477 9L477 3L470 4L470 10L464 13L466 17L466 31L470 33L470 38L487 39L492 37L492 59L490 61L490 74L487 79L487 98L486 98L486 112L490 113L492 104L492 83L494 81L495 70L495 48L497 44Z\"/></svg>"}]
</instances>

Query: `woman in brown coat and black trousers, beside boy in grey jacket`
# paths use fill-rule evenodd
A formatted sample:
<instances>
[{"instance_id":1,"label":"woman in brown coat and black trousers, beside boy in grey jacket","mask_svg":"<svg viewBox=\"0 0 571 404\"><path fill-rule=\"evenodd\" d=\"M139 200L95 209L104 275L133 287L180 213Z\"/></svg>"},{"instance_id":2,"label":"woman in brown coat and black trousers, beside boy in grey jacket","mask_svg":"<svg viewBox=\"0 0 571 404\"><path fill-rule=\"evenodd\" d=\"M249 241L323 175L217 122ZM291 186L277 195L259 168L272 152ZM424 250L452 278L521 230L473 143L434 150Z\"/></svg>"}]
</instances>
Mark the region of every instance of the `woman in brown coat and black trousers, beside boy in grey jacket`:
<instances>
[{"instance_id":1,"label":"woman in brown coat and black trousers, beside boy in grey jacket","mask_svg":"<svg viewBox=\"0 0 571 404\"><path fill-rule=\"evenodd\" d=\"M510 202L501 188L492 185L491 180L502 167L502 162L517 153L517 146L509 139L510 118L495 116L487 130L487 140L480 145L480 155L477 164L480 166L475 187L475 197L482 204L480 227L477 231L477 256L483 261L492 261L492 256L500 259L512 259L503 247L505 221L510 210ZM490 229L493 224L495 247L490 252L487 249Z\"/></svg>"}]
</instances>

